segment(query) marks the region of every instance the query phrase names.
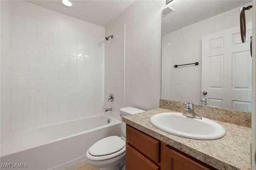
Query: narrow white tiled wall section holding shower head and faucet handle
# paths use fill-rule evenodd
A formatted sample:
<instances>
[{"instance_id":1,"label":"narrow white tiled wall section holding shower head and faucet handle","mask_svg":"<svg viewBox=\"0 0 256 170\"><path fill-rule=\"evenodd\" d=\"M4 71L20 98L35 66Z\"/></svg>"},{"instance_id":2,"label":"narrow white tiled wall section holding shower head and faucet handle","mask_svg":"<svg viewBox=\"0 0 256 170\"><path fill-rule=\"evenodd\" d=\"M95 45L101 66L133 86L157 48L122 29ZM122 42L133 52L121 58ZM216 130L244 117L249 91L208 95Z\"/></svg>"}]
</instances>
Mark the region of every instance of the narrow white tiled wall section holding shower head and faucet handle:
<instances>
[{"instance_id":1,"label":"narrow white tiled wall section holding shower head and faucet handle","mask_svg":"<svg viewBox=\"0 0 256 170\"><path fill-rule=\"evenodd\" d=\"M113 38L106 41L105 48L105 107L112 107L113 111L107 114L120 119L119 109L124 107L124 38L125 27L113 30ZM108 102L110 93L114 101Z\"/></svg>"}]
</instances>

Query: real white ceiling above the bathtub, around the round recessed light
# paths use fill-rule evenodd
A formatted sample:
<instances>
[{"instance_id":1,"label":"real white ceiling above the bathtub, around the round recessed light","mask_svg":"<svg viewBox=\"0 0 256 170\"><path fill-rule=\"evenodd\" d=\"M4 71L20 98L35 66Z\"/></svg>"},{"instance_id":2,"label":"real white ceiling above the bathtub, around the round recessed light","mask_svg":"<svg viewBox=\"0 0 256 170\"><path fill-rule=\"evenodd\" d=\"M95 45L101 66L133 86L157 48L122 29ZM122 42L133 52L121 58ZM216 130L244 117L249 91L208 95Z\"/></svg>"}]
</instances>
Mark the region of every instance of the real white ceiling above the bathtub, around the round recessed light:
<instances>
[{"instance_id":1,"label":"real white ceiling above the bathtub, around the round recessed light","mask_svg":"<svg viewBox=\"0 0 256 170\"><path fill-rule=\"evenodd\" d=\"M26 0L26 2L106 27L134 0L72 0L71 7L62 5L60 0Z\"/></svg>"}]
</instances>

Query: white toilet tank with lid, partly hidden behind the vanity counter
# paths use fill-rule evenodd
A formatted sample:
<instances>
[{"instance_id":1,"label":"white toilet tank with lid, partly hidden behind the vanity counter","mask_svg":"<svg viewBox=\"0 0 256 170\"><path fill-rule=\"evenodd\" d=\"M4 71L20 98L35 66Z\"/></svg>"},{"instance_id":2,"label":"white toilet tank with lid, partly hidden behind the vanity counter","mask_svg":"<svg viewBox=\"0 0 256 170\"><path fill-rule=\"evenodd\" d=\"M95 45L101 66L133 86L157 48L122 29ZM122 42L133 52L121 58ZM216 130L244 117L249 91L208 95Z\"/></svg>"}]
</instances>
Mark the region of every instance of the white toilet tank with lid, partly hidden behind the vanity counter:
<instances>
[{"instance_id":1,"label":"white toilet tank with lid, partly hidden behind the vanity counter","mask_svg":"<svg viewBox=\"0 0 256 170\"><path fill-rule=\"evenodd\" d=\"M144 112L144 110L137 109L134 107L124 107L120 109L121 114L121 128L122 128L122 136L126 136L126 123L122 121L123 116L133 115L136 113Z\"/></svg>"}]
</instances>

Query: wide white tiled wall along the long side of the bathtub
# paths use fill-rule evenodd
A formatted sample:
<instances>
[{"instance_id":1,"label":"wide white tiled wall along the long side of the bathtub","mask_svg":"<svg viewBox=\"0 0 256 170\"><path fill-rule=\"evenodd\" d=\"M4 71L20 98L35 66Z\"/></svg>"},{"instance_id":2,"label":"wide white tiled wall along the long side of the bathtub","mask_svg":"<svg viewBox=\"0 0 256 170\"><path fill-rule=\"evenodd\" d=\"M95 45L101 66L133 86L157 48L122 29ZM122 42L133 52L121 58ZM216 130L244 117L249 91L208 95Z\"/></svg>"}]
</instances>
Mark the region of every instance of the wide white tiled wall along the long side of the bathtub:
<instances>
[{"instance_id":1,"label":"wide white tiled wall along the long side of the bathtub","mask_svg":"<svg viewBox=\"0 0 256 170\"><path fill-rule=\"evenodd\" d=\"M102 112L103 37L18 15L10 25L11 131Z\"/></svg>"}]
</instances>

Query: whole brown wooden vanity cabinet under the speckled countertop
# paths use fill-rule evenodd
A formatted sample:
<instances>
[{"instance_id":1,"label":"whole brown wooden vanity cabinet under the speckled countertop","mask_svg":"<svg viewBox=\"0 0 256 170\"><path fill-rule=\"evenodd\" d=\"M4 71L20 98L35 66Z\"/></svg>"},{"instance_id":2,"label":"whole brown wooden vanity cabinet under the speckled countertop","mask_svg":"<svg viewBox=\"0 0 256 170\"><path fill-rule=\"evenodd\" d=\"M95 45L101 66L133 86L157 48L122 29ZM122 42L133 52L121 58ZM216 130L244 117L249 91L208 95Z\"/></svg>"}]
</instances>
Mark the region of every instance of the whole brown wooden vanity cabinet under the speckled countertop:
<instances>
[{"instance_id":1,"label":"whole brown wooden vanity cabinet under the speckled countertop","mask_svg":"<svg viewBox=\"0 0 256 170\"><path fill-rule=\"evenodd\" d=\"M216 170L126 125L126 170Z\"/></svg>"}]
</instances>

